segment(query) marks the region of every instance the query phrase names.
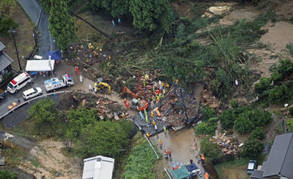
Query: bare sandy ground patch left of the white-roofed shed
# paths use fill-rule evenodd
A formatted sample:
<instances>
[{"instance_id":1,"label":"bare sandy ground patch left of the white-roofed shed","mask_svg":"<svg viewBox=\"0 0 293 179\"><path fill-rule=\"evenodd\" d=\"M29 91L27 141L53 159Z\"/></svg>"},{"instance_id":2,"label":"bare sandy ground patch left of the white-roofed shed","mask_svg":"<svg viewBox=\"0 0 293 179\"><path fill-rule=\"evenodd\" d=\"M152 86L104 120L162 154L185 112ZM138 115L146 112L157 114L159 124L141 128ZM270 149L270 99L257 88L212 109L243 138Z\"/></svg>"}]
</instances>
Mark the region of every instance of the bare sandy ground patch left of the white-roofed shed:
<instances>
[{"instance_id":1,"label":"bare sandy ground patch left of the white-roofed shed","mask_svg":"<svg viewBox=\"0 0 293 179\"><path fill-rule=\"evenodd\" d=\"M44 140L30 150L29 160L20 164L19 168L37 178L80 179L83 161L64 156L62 147L59 141Z\"/></svg>"}]
</instances>

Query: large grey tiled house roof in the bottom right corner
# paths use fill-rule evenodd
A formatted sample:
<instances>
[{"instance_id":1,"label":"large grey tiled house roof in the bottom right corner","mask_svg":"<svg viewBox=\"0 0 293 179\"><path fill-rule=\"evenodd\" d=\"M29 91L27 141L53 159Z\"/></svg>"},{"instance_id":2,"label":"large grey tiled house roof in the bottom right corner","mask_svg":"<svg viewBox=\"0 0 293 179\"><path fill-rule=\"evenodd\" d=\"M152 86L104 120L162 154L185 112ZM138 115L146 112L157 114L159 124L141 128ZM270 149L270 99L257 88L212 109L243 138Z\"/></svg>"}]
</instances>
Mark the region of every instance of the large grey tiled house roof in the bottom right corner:
<instances>
[{"instance_id":1,"label":"large grey tiled house roof in the bottom right corner","mask_svg":"<svg viewBox=\"0 0 293 179\"><path fill-rule=\"evenodd\" d=\"M276 136L263 177L282 175L293 179L293 133Z\"/></svg>"}]
</instances>

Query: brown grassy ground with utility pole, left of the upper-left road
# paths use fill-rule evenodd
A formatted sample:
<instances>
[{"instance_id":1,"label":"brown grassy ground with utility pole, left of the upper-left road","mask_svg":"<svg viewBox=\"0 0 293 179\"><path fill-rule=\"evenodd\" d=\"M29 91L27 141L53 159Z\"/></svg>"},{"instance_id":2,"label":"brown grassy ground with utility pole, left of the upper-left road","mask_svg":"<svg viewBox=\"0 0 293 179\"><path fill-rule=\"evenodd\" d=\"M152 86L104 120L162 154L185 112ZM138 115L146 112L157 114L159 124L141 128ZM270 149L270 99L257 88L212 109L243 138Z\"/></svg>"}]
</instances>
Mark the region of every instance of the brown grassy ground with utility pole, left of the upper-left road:
<instances>
[{"instance_id":1,"label":"brown grassy ground with utility pole, left of the upper-left road","mask_svg":"<svg viewBox=\"0 0 293 179\"><path fill-rule=\"evenodd\" d=\"M33 23L18 3L15 3L15 7L13 7L13 12L10 15L10 18L19 24L19 27L16 28L17 32L14 36L19 53L20 64L21 67L25 69L25 57L30 55L35 44L35 40L33 38ZM19 65L12 37L0 36L0 41L6 46L4 49L5 53L7 53L14 60L12 63L12 69L18 71Z\"/></svg>"}]
</instances>

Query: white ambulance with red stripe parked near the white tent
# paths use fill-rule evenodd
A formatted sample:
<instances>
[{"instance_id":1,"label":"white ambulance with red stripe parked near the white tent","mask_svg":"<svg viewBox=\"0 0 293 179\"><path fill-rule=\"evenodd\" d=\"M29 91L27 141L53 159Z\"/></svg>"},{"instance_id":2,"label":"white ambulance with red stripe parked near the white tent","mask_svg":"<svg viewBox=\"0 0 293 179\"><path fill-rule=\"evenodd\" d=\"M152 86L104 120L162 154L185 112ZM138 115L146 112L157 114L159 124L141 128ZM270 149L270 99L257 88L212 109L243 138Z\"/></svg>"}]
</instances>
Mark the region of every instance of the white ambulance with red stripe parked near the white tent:
<instances>
[{"instance_id":1,"label":"white ambulance with red stripe parked near the white tent","mask_svg":"<svg viewBox=\"0 0 293 179\"><path fill-rule=\"evenodd\" d=\"M17 92L20 88L24 87L25 85L29 84L32 81L30 75L27 73L22 73L15 77L7 86L7 89L10 93Z\"/></svg>"}]
</instances>

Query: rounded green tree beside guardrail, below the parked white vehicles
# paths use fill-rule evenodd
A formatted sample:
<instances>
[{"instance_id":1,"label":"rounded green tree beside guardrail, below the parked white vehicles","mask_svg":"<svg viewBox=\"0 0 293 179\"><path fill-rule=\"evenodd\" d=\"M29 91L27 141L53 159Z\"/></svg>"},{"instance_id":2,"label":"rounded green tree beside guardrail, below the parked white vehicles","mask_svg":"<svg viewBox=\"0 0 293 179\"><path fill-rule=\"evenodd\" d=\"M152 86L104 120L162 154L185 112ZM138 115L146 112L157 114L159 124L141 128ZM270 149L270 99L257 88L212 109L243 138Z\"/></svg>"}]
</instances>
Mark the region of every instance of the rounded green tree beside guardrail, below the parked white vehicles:
<instances>
[{"instance_id":1,"label":"rounded green tree beside guardrail, below the parked white vehicles","mask_svg":"<svg viewBox=\"0 0 293 179\"><path fill-rule=\"evenodd\" d=\"M51 122L57 119L56 104L52 99L42 99L28 110L38 122Z\"/></svg>"}]
</instances>

